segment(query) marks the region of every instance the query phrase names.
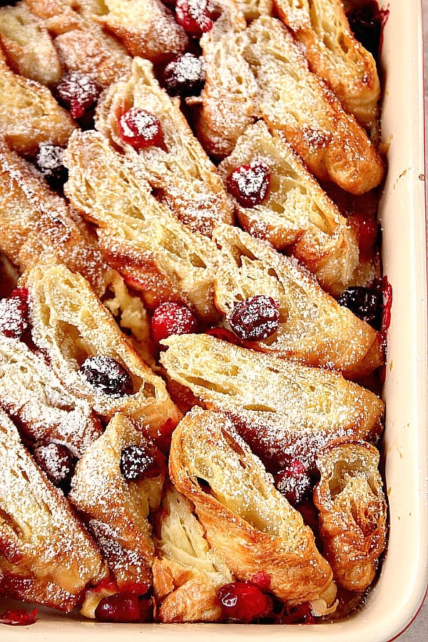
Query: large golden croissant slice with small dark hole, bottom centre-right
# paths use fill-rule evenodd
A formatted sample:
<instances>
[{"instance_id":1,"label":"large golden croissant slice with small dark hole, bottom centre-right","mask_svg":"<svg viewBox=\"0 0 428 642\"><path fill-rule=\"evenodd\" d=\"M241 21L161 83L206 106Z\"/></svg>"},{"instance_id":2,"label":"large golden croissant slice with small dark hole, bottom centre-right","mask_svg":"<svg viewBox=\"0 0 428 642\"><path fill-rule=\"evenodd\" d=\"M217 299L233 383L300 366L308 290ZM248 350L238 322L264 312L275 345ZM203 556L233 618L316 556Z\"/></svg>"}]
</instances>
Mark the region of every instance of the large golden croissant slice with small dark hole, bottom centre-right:
<instances>
[{"instance_id":1,"label":"large golden croissant slice with small dark hole, bottom centre-right","mask_svg":"<svg viewBox=\"0 0 428 642\"><path fill-rule=\"evenodd\" d=\"M272 593L290 606L332 604L332 571L312 531L226 414L198 408L186 414L173 432L169 467L175 487L195 504L210 546L237 579L263 570Z\"/></svg>"}]
</instances>

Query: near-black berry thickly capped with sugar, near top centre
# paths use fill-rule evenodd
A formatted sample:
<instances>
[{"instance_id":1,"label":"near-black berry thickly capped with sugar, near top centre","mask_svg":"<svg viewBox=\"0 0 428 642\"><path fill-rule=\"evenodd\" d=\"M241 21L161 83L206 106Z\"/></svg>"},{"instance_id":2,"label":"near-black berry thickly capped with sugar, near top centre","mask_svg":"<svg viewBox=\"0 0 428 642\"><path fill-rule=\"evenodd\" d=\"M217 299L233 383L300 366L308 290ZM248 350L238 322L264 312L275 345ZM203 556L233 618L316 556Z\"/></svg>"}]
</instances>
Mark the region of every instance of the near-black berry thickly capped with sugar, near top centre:
<instances>
[{"instance_id":1,"label":"near-black berry thickly capped with sugar, near top centre","mask_svg":"<svg viewBox=\"0 0 428 642\"><path fill-rule=\"evenodd\" d=\"M203 58L176 56L165 67L163 81L170 96L198 96L205 83Z\"/></svg>"}]
</instances>

